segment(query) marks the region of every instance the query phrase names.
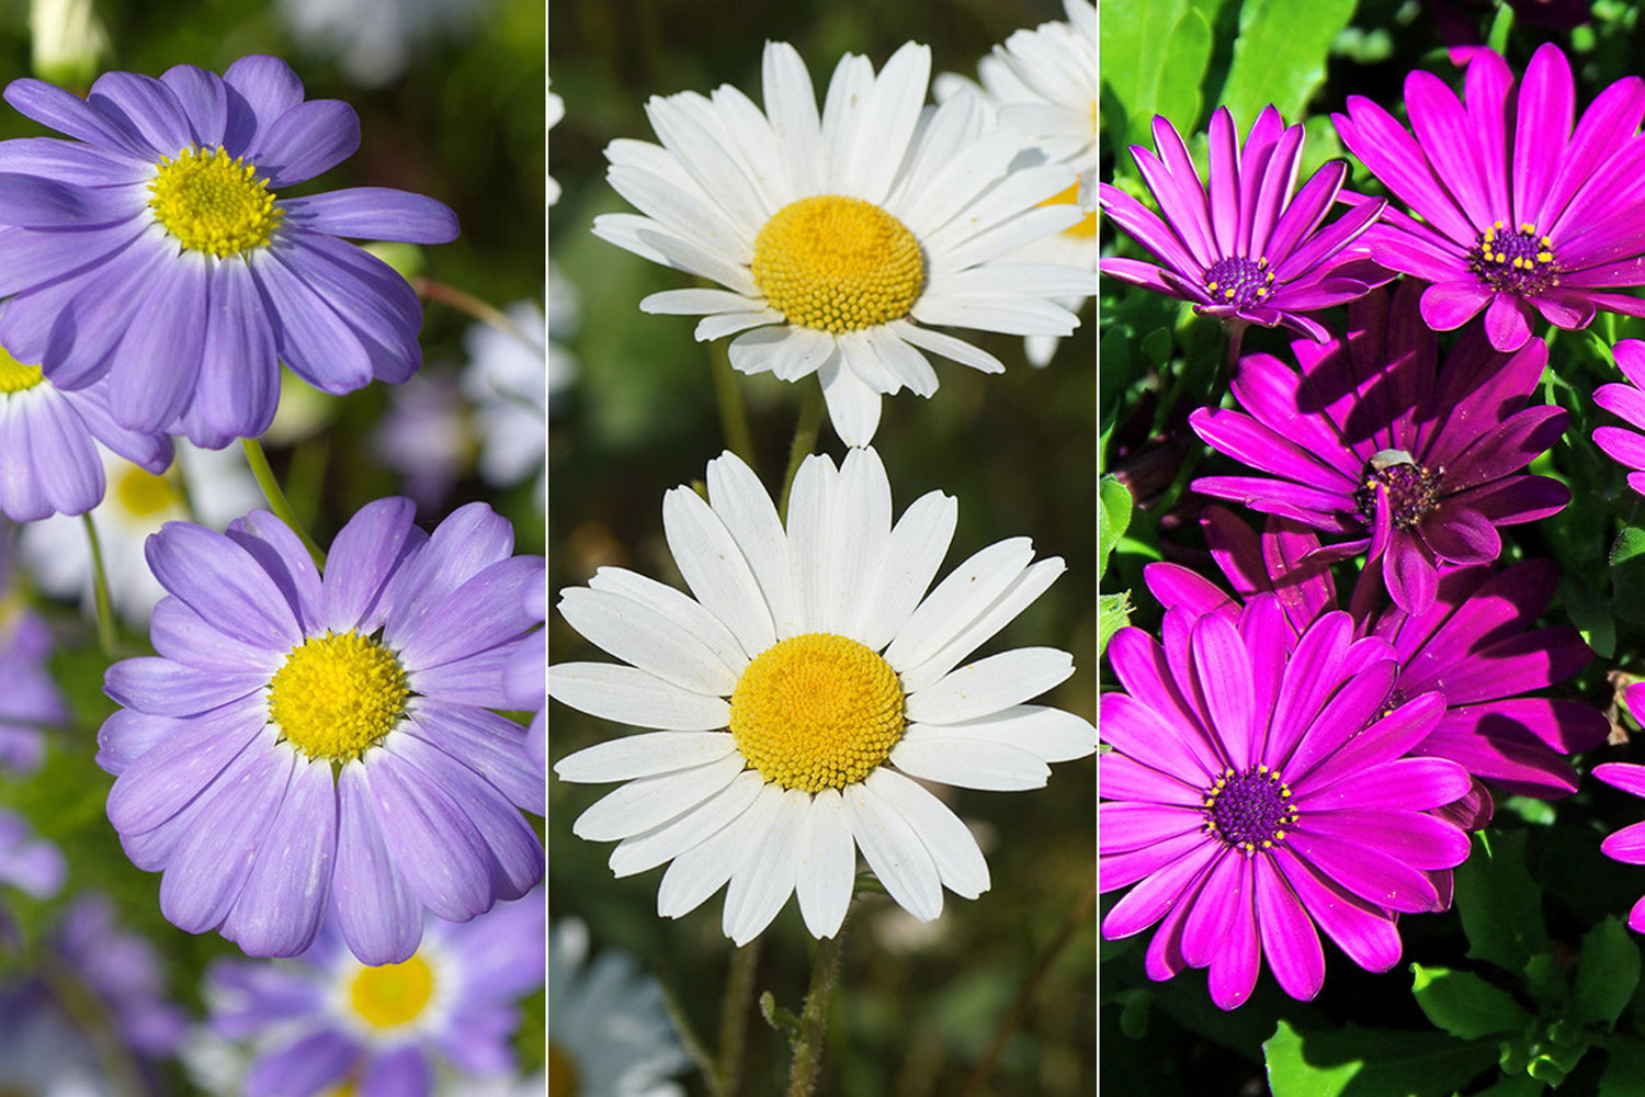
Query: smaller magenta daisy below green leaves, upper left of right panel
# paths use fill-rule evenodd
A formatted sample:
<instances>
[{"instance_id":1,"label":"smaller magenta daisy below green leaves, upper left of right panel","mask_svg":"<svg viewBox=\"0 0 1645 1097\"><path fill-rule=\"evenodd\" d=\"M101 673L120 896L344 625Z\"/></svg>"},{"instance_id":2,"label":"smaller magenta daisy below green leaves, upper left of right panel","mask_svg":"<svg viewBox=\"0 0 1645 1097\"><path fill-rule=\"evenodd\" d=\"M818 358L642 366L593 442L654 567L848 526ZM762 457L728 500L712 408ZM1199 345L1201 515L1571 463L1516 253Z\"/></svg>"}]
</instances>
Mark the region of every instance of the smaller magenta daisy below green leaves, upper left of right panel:
<instances>
[{"instance_id":1,"label":"smaller magenta daisy below green leaves, upper left of right panel","mask_svg":"<svg viewBox=\"0 0 1645 1097\"><path fill-rule=\"evenodd\" d=\"M1382 206L1364 202L1321 229L1347 179L1347 161L1324 164L1296 191L1303 127L1286 128L1273 107L1257 115L1244 150L1227 107L1211 115L1206 183L1183 138L1158 115L1153 143L1158 156L1140 145L1132 145L1132 156L1163 219L1112 184L1099 192L1109 219L1163 266L1104 258L1104 275L1191 301L1196 312L1227 322L1285 324L1319 340L1329 332L1303 312L1351 301L1392 278L1367 262L1364 248L1349 247Z\"/></svg>"}]
</instances>

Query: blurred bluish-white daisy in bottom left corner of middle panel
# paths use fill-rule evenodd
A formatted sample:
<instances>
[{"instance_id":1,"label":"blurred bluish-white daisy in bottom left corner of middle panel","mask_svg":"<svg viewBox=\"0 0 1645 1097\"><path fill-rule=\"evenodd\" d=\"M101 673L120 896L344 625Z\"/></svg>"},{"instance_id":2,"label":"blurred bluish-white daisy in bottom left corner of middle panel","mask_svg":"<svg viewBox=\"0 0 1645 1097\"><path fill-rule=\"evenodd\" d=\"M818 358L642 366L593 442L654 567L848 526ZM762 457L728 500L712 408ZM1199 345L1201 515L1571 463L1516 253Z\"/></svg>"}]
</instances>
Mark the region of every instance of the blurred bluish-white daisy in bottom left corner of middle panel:
<instances>
[{"instance_id":1,"label":"blurred bluish-white daisy in bottom left corner of middle panel","mask_svg":"<svg viewBox=\"0 0 1645 1097\"><path fill-rule=\"evenodd\" d=\"M684 1097L689 1066L663 990L627 952L589 962L589 929L566 918L548 934L548 1092ZM536 1090L541 1094L541 1087Z\"/></svg>"}]
</instances>

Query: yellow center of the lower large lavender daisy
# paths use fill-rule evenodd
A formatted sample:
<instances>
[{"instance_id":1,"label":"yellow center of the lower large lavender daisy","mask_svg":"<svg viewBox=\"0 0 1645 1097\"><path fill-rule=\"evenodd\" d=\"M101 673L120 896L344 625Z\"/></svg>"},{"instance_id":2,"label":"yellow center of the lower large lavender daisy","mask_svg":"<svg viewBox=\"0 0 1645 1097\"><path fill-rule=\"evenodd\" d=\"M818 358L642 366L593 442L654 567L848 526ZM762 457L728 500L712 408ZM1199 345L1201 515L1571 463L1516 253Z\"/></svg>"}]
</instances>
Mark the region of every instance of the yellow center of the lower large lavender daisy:
<instances>
[{"instance_id":1,"label":"yellow center of the lower large lavender daisy","mask_svg":"<svg viewBox=\"0 0 1645 1097\"><path fill-rule=\"evenodd\" d=\"M393 730L408 696L393 651L327 632L291 648L268 686L268 719L309 758L349 761Z\"/></svg>"}]
</instances>

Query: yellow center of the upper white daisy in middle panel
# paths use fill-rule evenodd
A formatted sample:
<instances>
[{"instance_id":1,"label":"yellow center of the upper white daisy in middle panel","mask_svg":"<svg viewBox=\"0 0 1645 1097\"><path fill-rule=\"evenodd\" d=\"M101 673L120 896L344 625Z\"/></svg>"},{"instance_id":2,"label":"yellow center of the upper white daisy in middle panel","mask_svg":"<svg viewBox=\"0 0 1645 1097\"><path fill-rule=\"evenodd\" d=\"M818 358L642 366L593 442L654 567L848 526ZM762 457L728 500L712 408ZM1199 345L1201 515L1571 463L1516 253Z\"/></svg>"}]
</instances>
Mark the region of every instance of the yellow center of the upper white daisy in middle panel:
<instances>
[{"instance_id":1,"label":"yellow center of the upper white daisy in middle panel","mask_svg":"<svg viewBox=\"0 0 1645 1097\"><path fill-rule=\"evenodd\" d=\"M873 202L819 194L753 238L753 281L790 324L862 331L908 316L924 286L915 234Z\"/></svg>"}]
</instances>

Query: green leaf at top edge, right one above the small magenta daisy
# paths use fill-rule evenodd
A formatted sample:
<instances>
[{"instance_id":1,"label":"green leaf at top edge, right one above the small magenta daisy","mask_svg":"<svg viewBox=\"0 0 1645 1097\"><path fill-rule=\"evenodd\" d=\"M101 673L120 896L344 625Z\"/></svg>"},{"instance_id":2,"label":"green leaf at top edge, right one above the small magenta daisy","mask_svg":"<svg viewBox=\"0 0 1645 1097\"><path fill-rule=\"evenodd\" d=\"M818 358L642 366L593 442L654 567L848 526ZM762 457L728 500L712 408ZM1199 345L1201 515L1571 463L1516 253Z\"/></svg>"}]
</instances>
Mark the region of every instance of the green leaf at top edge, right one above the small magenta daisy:
<instances>
[{"instance_id":1,"label":"green leaf at top edge, right one above the small magenta daisy","mask_svg":"<svg viewBox=\"0 0 1645 1097\"><path fill-rule=\"evenodd\" d=\"M1296 122L1326 79L1324 58L1354 16L1354 0L1245 0L1221 102L1240 130L1273 104ZM1104 66L1109 58L1104 54Z\"/></svg>"}]
</instances>

